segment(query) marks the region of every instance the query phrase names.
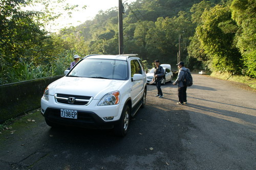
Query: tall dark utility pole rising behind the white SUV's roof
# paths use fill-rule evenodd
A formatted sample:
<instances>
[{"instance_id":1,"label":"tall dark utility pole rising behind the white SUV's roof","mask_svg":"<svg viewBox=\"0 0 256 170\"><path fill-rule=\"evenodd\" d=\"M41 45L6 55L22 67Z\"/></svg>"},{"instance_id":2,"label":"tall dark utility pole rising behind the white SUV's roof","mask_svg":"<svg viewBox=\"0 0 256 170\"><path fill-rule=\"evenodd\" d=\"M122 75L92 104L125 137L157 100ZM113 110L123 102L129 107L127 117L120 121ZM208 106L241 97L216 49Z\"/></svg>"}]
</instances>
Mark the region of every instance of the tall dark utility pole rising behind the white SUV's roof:
<instances>
[{"instance_id":1,"label":"tall dark utility pole rising behind the white SUV's roof","mask_svg":"<svg viewBox=\"0 0 256 170\"><path fill-rule=\"evenodd\" d=\"M119 54L123 54L123 4L122 0L119 1L118 6L118 25L119 25Z\"/></svg>"}]
</instances>

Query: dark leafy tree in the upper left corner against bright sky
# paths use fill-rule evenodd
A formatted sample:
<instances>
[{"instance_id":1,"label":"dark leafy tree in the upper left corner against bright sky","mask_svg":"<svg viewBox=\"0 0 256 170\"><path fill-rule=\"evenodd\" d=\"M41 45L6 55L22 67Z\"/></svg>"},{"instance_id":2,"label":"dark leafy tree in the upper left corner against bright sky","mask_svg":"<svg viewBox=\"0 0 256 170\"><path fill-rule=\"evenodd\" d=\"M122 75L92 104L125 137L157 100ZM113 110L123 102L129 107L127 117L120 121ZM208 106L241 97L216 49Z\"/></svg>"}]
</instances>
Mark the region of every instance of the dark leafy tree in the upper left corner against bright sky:
<instances>
[{"instance_id":1,"label":"dark leafy tree in the upper left corner against bright sky","mask_svg":"<svg viewBox=\"0 0 256 170\"><path fill-rule=\"evenodd\" d=\"M26 2L0 2L0 55L10 66L20 60L29 61L34 56L33 48L47 38L45 31L33 21L37 13L20 10Z\"/></svg>"}]
</instances>

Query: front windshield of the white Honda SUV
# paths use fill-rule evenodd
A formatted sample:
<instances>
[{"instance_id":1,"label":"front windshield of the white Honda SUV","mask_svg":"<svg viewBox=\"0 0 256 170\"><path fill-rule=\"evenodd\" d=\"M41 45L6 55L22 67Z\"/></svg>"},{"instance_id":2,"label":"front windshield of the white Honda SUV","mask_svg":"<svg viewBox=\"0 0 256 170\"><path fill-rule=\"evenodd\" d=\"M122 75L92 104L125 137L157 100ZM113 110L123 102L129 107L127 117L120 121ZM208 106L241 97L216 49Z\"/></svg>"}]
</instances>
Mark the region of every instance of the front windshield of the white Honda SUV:
<instances>
[{"instance_id":1,"label":"front windshield of the white Honda SUV","mask_svg":"<svg viewBox=\"0 0 256 170\"><path fill-rule=\"evenodd\" d=\"M127 80L127 62L111 59L84 59L70 71L67 77Z\"/></svg>"}]
</instances>

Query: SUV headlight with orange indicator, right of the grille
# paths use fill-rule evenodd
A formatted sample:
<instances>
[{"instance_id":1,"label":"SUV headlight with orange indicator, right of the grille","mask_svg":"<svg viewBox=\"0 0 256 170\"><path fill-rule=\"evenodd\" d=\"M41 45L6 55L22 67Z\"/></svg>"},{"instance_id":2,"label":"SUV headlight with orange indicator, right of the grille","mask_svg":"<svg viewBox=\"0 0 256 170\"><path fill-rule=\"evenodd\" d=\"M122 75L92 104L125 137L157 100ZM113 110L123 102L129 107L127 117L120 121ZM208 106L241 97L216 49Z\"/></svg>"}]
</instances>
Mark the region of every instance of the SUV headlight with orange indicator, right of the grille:
<instances>
[{"instance_id":1,"label":"SUV headlight with orange indicator, right of the grille","mask_svg":"<svg viewBox=\"0 0 256 170\"><path fill-rule=\"evenodd\" d=\"M112 91L103 96L98 103L98 106L117 105L119 103L119 91Z\"/></svg>"}]
</instances>

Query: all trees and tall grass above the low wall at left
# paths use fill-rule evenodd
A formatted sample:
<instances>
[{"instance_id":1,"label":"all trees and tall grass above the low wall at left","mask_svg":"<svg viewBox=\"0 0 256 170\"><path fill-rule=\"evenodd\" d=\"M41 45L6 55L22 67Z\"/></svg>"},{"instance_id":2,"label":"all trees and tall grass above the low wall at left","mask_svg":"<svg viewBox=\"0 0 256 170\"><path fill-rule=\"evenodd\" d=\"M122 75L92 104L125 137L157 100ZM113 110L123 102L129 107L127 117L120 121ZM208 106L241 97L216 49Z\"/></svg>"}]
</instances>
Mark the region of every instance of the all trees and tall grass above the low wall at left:
<instances>
[{"instance_id":1,"label":"all trees and tall grass above the low wall at left","mask_svg":"<svg viewBox=\"0 0 256 170\"><path fill-rule=\"evenodd\" d=\"M0 84L61 75L72 56L81 51L81 46L87 46L79 41L82 37L73 33L66 39L49 34L44 29L45 23L59 14L50 15L48 9L45 12L22 10L35 2L44 2L45 6L51 3L44 0L0 2Z\"/></svg>"}]
</instances>

